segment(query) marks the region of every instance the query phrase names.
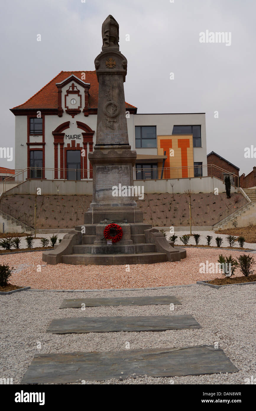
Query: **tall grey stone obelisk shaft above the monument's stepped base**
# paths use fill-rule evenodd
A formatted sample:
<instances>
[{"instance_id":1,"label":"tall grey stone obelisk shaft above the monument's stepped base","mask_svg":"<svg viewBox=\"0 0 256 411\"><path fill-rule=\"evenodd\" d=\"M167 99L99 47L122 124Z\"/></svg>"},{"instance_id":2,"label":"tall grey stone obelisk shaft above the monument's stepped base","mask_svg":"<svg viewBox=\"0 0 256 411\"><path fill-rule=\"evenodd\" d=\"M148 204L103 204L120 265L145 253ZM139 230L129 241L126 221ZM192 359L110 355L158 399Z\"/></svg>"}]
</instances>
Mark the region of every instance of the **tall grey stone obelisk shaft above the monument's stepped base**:
<instances>
[{"instance_id":1,"label":"tall grey stone obelisk shaft above the monument's stepped base","mask_svg":"<svg viewBox=\"0 0 256 411\"><path fill-rule=\"evenodd\" d=\"M131 196L113 196L113 187L133 186L136 151L131 150L127 130L123 84L127 60L119 51L119 25L111 15L102 25L102 39L102 51L95 59L99 81L96 144L89 154L93 166L93 194L86 213L100 214L99 218L93 218L97 223L104 219L104 212L106 215L117 213L113 219L120 219L126 212L134 214L136 207ZM134 221L134 217L132 219ZM85 216L85 222L90 223L89 220L91 218Z\"/></svg>"}]
</instances>

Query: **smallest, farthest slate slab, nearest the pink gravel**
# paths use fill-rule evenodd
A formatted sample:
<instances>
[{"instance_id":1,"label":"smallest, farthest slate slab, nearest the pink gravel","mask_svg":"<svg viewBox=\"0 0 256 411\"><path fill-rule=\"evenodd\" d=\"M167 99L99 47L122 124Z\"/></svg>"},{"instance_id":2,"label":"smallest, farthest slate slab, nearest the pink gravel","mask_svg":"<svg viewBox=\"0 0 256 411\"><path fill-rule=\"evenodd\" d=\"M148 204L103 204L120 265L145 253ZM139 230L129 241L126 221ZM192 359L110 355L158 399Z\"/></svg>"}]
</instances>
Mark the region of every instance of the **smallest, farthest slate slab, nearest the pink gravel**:
<instances>
[{"instance_id":1,"label":"smallest, farthest slate slab, nearest the pink gravel","mask_svg":"<svg viewBox=\"0 0 256 411\"><path fill-rule=\"evenodd\" d=\"M165 305L181 304L175 296L145 296L145 297L110 297L110 298L73 298L62 301L60 308L109 307L118 305Z\"/></svg>"}]
</instances>

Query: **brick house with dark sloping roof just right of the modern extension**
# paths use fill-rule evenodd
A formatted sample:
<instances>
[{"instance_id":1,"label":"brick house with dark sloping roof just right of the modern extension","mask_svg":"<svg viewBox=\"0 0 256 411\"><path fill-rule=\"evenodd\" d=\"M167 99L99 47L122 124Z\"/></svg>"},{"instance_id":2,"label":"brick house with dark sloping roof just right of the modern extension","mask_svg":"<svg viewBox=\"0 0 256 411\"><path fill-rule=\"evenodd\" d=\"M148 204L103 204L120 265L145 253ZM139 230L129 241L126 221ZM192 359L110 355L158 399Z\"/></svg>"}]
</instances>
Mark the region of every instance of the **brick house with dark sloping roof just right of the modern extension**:
<instances>
[{"instance_id":1,"label":"brick house with dark sloping roof just right of the modern extension","mask_svg":"<svg viewBox=\"0 0 256 411\"><path fill-rule=\"evenodd\" d=\"M207 164L208 164L208 175L214 175L214 177L224 180L226 175L230 176L230 181L232 185L236 187L240 186L239 183L239 168L229 162L228 160L221 157L219 154L211 151L207 155ZM211 164L218 167L211 167Z\"/></svg>"}]
</instances>

